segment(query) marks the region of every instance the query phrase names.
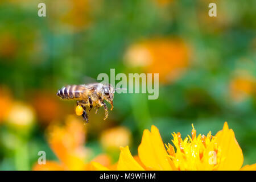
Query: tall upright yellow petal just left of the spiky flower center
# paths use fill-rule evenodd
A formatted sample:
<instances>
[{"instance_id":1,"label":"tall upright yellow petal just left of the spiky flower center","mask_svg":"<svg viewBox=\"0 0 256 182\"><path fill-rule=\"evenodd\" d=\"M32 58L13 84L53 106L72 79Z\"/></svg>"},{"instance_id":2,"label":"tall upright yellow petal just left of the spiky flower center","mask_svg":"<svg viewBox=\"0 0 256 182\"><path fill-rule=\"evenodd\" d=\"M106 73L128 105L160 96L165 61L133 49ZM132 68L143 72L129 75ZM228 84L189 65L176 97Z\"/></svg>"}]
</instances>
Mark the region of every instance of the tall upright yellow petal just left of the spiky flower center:
<instances>
[{"instance_id":1,"label":"tall upright yellow petal just left of the spiky flower center","mask_svg":"<svg viewBox=\"0 0 256 182\"><path fill-rule=\"evenodd\" d=\"M151 126L151 132L144 130L142 142L138 147L138 155L141 162L151 170L172 170L171 160L168 160L168 154L159 130Z\"/></svg>"}]
</instances>

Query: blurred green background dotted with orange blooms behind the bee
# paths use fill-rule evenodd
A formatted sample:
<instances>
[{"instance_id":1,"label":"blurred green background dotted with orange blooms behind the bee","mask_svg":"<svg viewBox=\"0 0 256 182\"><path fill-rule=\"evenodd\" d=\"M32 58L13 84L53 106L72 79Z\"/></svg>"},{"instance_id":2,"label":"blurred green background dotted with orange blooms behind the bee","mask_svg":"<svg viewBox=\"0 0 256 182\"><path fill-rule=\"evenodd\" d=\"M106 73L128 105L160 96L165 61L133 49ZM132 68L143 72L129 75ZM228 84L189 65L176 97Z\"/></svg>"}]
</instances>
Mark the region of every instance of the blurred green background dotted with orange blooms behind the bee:
<instances>
[{"instance_id":1,"label":"blurred green background dotted with orange blooms behind the bee","mask_svg":"<svg viewBox=\"0 0 256 182\"><path fill-rule=\"evenodd\" d=\"M47 16L38 16L38 3ZM209 17L209 3L217 17ZM132 154L144 129L155 125L163 141L183 138L191 124L215 135L227 121L245 164L256 162L256 1L20 0L0 2L0 169L28 170L46 151L49 125L75 116L75 102L61 101L64 85L100 73L159 73L159 98L115 94L114 109L89 114L88 161L107 154L105 134L121 126ZM109 106L109 105L108 105ZM110 106L109 106L110 107ZM124 134L114 133L115 137ZM110 137L111 138L111 137ZM111 142L110 142L111 145Z\"/></svg>"}]
</instances>

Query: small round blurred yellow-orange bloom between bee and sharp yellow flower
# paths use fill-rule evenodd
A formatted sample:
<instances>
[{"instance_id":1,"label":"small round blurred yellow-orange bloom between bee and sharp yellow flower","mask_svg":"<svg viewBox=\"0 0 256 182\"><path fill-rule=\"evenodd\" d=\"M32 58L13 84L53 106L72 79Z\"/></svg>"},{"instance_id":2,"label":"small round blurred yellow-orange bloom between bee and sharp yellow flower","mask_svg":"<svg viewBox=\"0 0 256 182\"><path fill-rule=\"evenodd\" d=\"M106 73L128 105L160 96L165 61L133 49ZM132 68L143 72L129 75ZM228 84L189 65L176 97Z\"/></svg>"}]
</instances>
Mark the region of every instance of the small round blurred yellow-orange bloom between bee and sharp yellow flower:
<instances>
[{"instance_id":1,"label":"small round blurred yellow-orange bloom between bee and sharp yellow flower","mask_svg":"<svg viewBox=\"0 0 256 182\"><path fill-rule=\"evenodd\" d=\"M107 149L116 149L130 144L131 133L126 127L114 127L101 134L101 144Z\"/></svg>"}]
</instances>

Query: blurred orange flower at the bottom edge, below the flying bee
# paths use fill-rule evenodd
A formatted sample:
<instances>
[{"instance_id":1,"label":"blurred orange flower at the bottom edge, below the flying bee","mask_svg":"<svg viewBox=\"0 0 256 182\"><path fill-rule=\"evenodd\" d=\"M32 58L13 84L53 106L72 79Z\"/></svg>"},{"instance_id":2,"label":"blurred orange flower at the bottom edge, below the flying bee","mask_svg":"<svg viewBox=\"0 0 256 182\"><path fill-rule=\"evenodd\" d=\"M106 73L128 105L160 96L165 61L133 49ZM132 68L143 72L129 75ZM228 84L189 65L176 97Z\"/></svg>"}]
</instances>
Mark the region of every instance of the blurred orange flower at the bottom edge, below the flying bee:
<instances>
[{"instance_id":1,"label":"blurred orange flower at the bottom edge, below the flying bee","mask_svg":"<svg viewBox=\"0 0 256 182\"><path fill-rule=\"evenodd\" d=\"M84 147L86 129L84 123L70 115L65 126L50 125L48 128L48 143L60 162L46 161L46 164L36 163L34 170L93 170L99 164L110 165L106 155L97 156L92 162L88 160L89 150Z\"/></svg>"}]
</instances>

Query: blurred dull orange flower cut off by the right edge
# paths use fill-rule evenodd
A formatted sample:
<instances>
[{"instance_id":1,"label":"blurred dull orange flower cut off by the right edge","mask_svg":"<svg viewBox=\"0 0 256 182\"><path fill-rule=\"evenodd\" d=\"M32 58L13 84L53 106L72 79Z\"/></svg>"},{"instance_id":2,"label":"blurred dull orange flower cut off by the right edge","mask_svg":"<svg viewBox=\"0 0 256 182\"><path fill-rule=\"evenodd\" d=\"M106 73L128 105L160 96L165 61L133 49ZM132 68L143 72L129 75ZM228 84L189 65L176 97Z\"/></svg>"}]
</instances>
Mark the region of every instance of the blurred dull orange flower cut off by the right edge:
<instances>
[{"instance_id":1,"label":"blurred dull orange flower cut off by the right edge","mask_svg":"<svg viewBox=\"0 0 256 182\"><path fill-rule=\"evenodd\" d=\"M256 94L256 79L250 75L239 75L230 82L230 93L235 101L243 101Z\"/></svg>"}]
</instances>

